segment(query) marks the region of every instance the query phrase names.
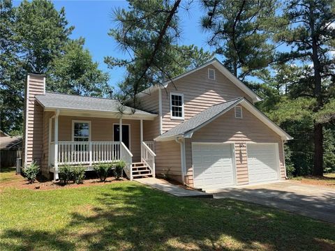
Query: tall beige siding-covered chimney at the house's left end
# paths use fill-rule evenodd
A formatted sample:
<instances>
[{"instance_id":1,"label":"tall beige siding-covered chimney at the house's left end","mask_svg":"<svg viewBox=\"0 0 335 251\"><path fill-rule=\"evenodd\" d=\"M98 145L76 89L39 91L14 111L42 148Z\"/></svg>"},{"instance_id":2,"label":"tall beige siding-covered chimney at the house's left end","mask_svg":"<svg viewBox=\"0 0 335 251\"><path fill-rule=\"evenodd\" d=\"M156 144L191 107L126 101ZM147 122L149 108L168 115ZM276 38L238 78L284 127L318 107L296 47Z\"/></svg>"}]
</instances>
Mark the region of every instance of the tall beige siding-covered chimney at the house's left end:
<instances>
[{"instance_id":1,"label":"tall beige siding-covered chimney at the house's left end","mask_svg":"<svg viewBox=\"0 0 335 251\"><path fill-rule=\"evenodd\" d=\"M29 73L24 93L23 163L34 160L41 165L43 158L43 107L35 96L45 94L45 76Z\"/></svg>"}]
</instances>

